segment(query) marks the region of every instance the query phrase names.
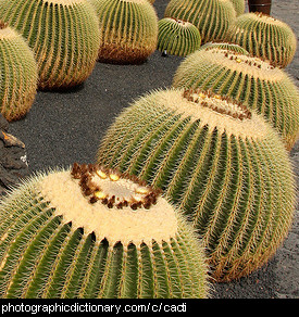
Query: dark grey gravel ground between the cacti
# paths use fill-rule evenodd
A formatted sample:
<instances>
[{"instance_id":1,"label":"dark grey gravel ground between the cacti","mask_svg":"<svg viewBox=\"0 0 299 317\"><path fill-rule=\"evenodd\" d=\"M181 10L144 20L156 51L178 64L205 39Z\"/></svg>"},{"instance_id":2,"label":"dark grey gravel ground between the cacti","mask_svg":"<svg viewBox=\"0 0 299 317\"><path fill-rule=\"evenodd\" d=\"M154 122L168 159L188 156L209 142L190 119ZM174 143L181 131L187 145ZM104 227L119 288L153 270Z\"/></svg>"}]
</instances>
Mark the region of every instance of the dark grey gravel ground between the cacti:
<instances>
[{"instance_id":1,"label":"dark grey gravel ground between the cacti","mask_svg":"<svg viewBox=\"0 0 299 317\"><path fill-rule=\"evenodd\" d=\"M155 0L163 17L169 1ZM272 15L288 23L298 36L298 0L273 0ZM49 167L67 167L73 162L92 162L99 141L121 110L151 89L170 87L182 58L162 58L155 51L141 65L97 63L84 85L63 92L38 92L27 116L10 124L10 132L27 151L30 173ZM286 69L299 84L298 50ZM292 150L296 173L299 144ZM215 283L215 299L298 299L298 212L284 245L269 264L249 277L229 283Z\"/></svg>"}]
</instances>

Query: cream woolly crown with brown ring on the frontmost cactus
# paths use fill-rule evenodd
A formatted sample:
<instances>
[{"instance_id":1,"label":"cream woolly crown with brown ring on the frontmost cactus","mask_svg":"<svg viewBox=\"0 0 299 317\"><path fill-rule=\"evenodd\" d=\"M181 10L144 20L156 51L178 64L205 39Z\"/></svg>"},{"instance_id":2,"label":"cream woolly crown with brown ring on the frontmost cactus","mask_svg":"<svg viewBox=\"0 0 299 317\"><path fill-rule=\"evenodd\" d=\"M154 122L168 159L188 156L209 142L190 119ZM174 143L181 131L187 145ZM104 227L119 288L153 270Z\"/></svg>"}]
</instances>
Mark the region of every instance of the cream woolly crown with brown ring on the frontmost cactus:
<instances>
[{"instance_id":1,"label":"cream woolly crown with brown ring on the frontmost cactus","mask_svg":"<svg viewBox=\"0 0 299 317\"><path fill-rule=\"evenodd\" d=\"M74 164L71 170L43 177L38 190L65 224L94 232L112 246L162 243L177 233L174 208L159 196L160 190L117 170Z\"/></svg>"}]
</instances>

